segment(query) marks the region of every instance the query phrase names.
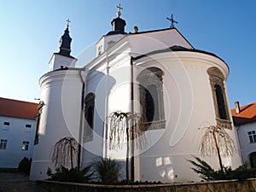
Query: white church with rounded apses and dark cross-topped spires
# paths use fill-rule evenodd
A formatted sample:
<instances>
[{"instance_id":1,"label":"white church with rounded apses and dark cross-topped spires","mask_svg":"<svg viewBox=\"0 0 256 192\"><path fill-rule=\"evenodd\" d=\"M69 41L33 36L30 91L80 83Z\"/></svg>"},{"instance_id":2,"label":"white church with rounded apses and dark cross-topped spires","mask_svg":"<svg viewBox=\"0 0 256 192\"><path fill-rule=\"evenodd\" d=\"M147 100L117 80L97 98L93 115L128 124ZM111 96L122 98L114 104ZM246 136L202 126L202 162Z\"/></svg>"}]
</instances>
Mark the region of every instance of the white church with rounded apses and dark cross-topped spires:
<instances>
[{"instance_id":1,"label":"white church with rounded apses and dark cross-topped spires","mask_svg":"<svg viewBox=\"0 0 256 192\"><path fill-rule=\"evenodd\" d=\"M141 138L135 138L143 144L128 152L134 156L132 180L199 181L188 160L201 157L203 128L220 125L236 143L225 83L228 65L195 49L174 26L126 33L120 12L111 24L113 30L96 42L96 58L84 67L76 67L70 55L67 25L49 72L39 79L41 108L30 178L45 179L48 167L55 169L52 150L63 137L81 144L81 167L98 156L125 162L125 141L122 148L109 148L106 119L119 111L143 119ZM217 156L203 159L218 169ZM223 163L236 168L241 158L223 156Z\"/></svg>"}]
</instances>

